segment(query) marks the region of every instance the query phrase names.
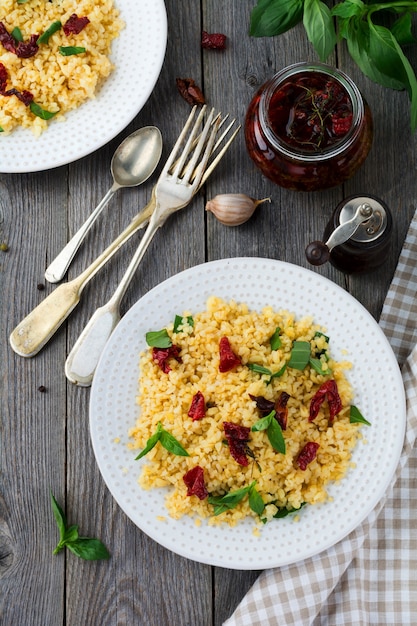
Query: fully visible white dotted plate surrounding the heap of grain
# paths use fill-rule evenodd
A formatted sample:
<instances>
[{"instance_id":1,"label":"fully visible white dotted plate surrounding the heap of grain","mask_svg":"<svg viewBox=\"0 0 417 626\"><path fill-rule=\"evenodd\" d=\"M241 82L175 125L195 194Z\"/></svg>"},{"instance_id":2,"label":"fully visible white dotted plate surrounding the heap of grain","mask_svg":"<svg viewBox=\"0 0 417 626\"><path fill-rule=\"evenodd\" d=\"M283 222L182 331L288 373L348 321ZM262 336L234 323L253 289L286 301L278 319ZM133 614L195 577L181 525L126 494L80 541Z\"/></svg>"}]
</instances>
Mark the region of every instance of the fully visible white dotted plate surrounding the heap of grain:
<instances>
[{"instance_id":1,"label":"fully visible white dotted plate surrounding the heap of grain","mask_svg":"<svg viewBox=\"0 0 417 626\"><path fill-rule=\"evenodd\" d=\"M128 449L134 426L139 353L145 333L158 330L185 310L198 312L207 298L266 305L313 315L326 328L332 356L349 359L348 377L355 404L371 422L366 442L354 450L356 467L330 487L333 502L305 507L300 521L291 517L266 524L260 536L254 521L235 528L197 527L192 519L171 519L163 489L145 491L137 483L137 452ZM366 309L333 282L296 265L259 258L213 261L191 268L148 292L123 317L98 365L90 400L90 430L102 476L126 515L169 550L210 565L232 569L278 567L313 556L334 545L370 513L387 489L400 457L406 412L400 370L380 327ZM166 516L159 521L159 516ZM244 549L242 549L244 546Z\"/></svg>"}]
</instances>

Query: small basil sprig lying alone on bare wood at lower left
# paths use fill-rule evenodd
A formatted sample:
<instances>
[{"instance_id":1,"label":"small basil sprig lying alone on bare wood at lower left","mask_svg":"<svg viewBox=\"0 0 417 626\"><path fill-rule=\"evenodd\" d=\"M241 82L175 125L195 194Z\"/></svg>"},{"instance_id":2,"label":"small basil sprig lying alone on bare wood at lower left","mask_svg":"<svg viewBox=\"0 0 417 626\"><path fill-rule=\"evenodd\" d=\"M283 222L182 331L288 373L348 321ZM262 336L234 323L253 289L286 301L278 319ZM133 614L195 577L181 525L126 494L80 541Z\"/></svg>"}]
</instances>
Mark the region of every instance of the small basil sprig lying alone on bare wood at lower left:
<instances>
[{"instance_id":1,"label":"small basil sprig lying alone on bare wood at lower left","mask_svg":"<svg viewBox=\"0 0 417 626\"><path fill-rule=\"evenodd\" d=\"M58 554L64 548L86 561L109 559L110 553L100 539L80 537L78 526L68 526L65 514L51 492L51 505L59 529L59 542L53 551Z\"/></svg>"}]
</instances>

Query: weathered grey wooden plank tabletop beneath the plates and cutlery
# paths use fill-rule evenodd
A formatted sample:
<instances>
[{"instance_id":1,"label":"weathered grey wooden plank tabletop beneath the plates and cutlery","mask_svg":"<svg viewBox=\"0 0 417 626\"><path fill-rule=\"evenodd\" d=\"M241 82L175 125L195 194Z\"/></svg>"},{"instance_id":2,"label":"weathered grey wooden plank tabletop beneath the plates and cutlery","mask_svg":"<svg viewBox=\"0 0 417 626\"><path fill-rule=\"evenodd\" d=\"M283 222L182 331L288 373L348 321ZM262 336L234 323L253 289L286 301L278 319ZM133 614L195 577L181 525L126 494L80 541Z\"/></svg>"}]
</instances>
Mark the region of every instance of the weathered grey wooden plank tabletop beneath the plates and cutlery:
<instances>
[{"instance_id":1,"label":"weathered grey wooden plank tabletop beneath the plates and cutlery","mask_svg":"<svg viewBox=\"0 0 417 626\"><path fill-rule=\"evenodd\" d=\"M0 252L0 623L5 626L220 625L259 575L201 565L162 548L124 515L98 471L89 437L90 392L68 383L63 366L92 312L113 292L137 238L90 283L76 312L38 356L21 358L8 342L15 325L54 289L45 285L45 268L108 190L111 156L121 139L155 124L163 133L164 156L169 153L189 111L176 90L176 77L192 77L210 105L243 121L254 91L276 70L317 60L302 28L273 39L250 38L254 4L166 0L165 63L130 126L78 162L40 173L0 174L0 240L9 246ZM227 49L202 51L202 27L225 33ZM344 45L329 61L355 80L373 112L374 144L361 170L329 191L285 191L255 169L240 133L192 207L170 219L151 244L124 299L124 312L162 280L218 258L260 256L308 267L305 245L322 236L334 207L348 195L372 193L394 217L383 267L352 277L330 264L317 271L378 318L415 210L416 137L410 132L405 93L367 80ZM149 183L119 192L77 255L69 278L127 225L149 199L150 188ZM272 204L262 205L245 225L227 228L204 211L206 199L223 192L271 196ZM110 561L86 562L71 553L52 556L57 529L50 489L82 534L106 543Z\"/></svg>"}]
</instances>

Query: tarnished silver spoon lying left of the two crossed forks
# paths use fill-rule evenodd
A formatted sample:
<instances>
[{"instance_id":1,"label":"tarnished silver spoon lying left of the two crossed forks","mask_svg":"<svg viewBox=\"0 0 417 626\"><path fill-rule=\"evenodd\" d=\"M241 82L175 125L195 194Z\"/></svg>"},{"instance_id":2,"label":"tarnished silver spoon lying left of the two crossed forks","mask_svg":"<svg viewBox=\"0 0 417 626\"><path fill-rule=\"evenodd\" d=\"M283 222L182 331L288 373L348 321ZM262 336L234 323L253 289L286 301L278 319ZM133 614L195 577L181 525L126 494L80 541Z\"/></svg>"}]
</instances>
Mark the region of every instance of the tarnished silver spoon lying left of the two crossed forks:
<instances>
[{"instance_id":1,"label":"tarnished silver spoon lying left of the two crossed forks","mask_svg":"<svg viewBox=\"0 0 417 626\"><path fill-rule=\"evenodd\" d=\"M48 282L58 283L65 276L84 237L116 191L122 187L136 187L144 183L158 165L161 154L162 135L156 126L139 128L122 141L110 165L113 176L112 187L90 217L47 267L45 278Z\"/></svg>"}]
</instances>

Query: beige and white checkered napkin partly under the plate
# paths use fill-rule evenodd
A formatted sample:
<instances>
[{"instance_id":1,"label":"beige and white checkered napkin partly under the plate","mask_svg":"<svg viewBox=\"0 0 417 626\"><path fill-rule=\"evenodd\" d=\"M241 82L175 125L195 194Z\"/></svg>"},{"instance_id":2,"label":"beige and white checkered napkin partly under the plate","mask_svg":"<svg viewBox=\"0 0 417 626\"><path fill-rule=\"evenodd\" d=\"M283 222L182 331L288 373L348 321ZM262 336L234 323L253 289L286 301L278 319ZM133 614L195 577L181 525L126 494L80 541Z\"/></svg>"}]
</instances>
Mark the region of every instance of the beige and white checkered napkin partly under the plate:
<instances>
[{"instance_id":1,"label":"beige and white checkered napkin partly under the plate","mask_svg":"<svg viewBox=\"0 0 417 626\"><path fill-rule=\"evenodd\" d=\"M404 447L391 487L332 548L263 572L224 626L417 623L417 211L380 326L402 366L407 398Z\"/></svg>"}]
</instances>

